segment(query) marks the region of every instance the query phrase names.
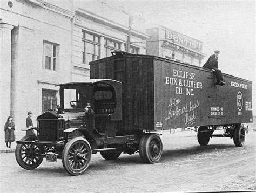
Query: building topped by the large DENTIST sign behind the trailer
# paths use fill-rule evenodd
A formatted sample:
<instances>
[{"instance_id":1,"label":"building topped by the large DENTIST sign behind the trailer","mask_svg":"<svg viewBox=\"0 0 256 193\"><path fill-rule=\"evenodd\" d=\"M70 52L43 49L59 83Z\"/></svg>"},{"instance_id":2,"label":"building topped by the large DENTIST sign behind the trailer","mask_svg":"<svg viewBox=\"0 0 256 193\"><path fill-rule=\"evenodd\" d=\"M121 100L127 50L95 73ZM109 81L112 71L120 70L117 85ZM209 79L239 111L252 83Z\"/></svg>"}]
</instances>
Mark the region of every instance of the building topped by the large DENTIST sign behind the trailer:
<instances>
[{"instance_id":1,"label":"building topped by the large DENTIST sign behind the trailer","mask_svg":"<svg viewBox=\"0 0 256 193\"><path fill-rule=\"evenodd\" d=\"M146 54L181 61L185 64L201 66L203 42L179 32L159 26L147 29L150 35Z\"/></svg>"}]
</instances>

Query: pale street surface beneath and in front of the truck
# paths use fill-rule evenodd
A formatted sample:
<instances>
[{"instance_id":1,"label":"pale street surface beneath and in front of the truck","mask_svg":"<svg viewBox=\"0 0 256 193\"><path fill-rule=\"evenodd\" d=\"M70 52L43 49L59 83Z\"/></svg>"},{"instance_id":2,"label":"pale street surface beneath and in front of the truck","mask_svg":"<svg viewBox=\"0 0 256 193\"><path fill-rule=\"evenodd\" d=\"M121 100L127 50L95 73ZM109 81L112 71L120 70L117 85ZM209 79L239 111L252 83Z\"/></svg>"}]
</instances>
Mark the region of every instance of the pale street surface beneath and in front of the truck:
<instances>
[{"instance_id":1,"label":"pale street surface beneath and in front of the truck","mask_svg":"<svg viewBox=\"0 0 256 193\"><path fill-rule=\"evenodd\" d=\"M252 127L241 148L229 138L213 138L207 147L200 147L197 133L189 130L162 133L164 152L159 163L144 164L138 153L122 154L116 161L96 154L80 176L69 176L61 160L44 160L37 169L24 170L14 153L2 153L0 192L256 190Z\"/></svg>"}]
</instances>

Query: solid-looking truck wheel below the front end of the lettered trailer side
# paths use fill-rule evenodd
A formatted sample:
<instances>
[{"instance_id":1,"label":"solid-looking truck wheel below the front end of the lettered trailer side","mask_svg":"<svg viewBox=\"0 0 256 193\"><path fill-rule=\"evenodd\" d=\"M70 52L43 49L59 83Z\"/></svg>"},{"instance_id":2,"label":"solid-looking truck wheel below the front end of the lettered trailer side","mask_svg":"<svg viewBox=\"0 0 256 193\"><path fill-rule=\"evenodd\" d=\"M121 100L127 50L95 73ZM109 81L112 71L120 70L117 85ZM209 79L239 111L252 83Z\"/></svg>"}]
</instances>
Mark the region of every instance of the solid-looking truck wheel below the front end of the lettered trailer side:
<instances>
[{"instance_id":1,"label":"solid-looking truck wheel below the front end of the lettered trailer side","mask_svg":"<svg viewBox=\"0 0 256 193\"><path fill-rule=\"evenodd\" d=\"M139 142L140 158L146 163L156 163L163 153L163 143L156 133L149 133L142 136Z\"/></svg>"}]
</instances>

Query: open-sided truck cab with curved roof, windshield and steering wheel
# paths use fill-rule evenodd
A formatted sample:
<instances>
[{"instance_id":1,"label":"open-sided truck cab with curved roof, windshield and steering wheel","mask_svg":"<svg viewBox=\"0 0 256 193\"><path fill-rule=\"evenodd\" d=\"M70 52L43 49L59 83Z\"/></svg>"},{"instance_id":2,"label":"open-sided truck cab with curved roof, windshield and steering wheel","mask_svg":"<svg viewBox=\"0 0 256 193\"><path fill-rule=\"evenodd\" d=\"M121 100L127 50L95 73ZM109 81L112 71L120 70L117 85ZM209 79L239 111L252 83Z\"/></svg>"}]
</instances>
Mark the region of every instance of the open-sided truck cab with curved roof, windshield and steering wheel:
<instances>
[{"instance_id":1,"label":"open-sided truck cab with curved roof, windshield and steering wheel","mask_svg":"<svg viewBox=\"0 0 256 193\"><path fill-rule=\"evenodd\" d=\"M58 112L65 119L65 129L69 129L65 132L73 133L76 129L93 138L116 135L118 121L122 119L121 82L91 79L56 86L60 86Z\"/></svg>"}]
</instances>

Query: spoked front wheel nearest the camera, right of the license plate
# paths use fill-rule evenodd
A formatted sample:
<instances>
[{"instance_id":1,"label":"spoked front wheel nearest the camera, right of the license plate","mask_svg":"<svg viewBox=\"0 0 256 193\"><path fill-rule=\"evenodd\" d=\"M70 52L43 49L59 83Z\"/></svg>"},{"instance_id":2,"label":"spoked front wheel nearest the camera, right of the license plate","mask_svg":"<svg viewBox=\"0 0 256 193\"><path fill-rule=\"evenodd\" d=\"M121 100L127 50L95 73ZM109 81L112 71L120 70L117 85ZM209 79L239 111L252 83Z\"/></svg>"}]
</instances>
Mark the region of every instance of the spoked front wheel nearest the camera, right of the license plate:
<instances>
[{"instance_id":1,"label":"spoked front wheel nearest the camera, right of the license plate","mask_svg":"<svg viewBox=\"0 0 256 193\"><path fill-rule=\"evenodd\" d=\"M83 137L76 137L66 143L63 154L62 164L70 175L82 174L91 161L92 150L89 142Z\"/></svg>"}]
</instances>

